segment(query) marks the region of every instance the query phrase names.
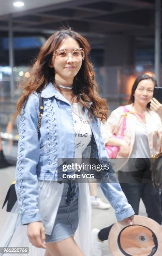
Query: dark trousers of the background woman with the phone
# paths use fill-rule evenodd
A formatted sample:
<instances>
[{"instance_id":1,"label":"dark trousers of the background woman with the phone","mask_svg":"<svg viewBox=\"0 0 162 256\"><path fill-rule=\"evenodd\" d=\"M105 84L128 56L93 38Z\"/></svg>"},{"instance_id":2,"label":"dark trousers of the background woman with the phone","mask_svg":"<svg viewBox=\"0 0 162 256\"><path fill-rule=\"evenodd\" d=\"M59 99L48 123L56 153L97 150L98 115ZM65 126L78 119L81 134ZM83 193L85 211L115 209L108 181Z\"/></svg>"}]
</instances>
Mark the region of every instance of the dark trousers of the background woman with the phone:
<instances>
[{"instance_id":1,"label":"dark trousers of the background woman with the phone","mask_svg":"<svg viewBox=\"0 0 162 256\"><path fill-rule=\"evenodd\" d=\"M137 172L122 172L119 171L118 176L122 191L127 197L128 203L132 206L135 215L139 213L140 199L142 199L148 218L155 220L160 225L162 224L162 194L160 196L159 189L153 187L151 181L150 170L140 170ZM113 225L113 224L112 224ZM103 228L98 233L98 238L101 241L108 239L110 225Z\"/></svg>"}]
</instances>

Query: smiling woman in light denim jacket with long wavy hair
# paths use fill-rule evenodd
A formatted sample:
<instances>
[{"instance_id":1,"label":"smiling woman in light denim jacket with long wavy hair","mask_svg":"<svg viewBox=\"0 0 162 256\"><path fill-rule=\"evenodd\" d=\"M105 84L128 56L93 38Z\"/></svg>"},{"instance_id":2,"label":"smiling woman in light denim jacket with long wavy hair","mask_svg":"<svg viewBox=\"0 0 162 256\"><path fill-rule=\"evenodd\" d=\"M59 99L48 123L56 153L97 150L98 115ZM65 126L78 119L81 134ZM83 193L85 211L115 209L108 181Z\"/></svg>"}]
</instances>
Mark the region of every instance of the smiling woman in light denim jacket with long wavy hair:
<instances>
[{"instance_id":1,"label":"smiling woman in light denim jacket with long wavy hair","mask_svg":"<svg viewBox=\"0 0 162 256\"><path fill-rule=\"evenodd\" d=\"M91 164L96 159L97 168L102 164L97 176L101 189L117 220L131 222L134 211L113 169L107 168L110 163L100 120L106 120L108 110L98 95L89 51L89 43L80 34L70 29L57 31L40 49L30 77L22 85L15 114L20 136L17 202L10 213L12 227L3 229L2 247L27 246L34 256L90 256L89 187L79 176L67 182L69 164L64 159L76 163L91 159ZM69 172L78 173L76 165Z\"/></svg>"}]
</instances>

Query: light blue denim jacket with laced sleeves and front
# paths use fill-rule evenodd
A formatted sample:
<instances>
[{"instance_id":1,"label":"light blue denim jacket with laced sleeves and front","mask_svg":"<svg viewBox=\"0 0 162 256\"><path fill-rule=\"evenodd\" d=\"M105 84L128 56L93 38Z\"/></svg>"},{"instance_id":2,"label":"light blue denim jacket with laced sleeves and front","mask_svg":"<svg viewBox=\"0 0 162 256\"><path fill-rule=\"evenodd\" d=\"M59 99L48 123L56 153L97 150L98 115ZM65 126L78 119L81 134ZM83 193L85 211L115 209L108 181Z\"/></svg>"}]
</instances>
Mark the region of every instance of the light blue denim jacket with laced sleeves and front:
<instances>
[{"instance_id":1,"label":"light blue denim jacket with laced sleeves and front","mask_svg":"<svg viewBox=\"0 0 162 256\"><path fill-rule=\"evenodd\" d=\"M30 95L17 117L19 143L15 189L20 206L21 225L42 221L38 208L38 179L57 180L57 158L75 157L75 129L70 102L55 89L52 83L47 84L42 90L42 97L44 113L39 138L37 136L39 98L36 92ZM85 112L87 113L87 108ZM90 126L91 146L88 146L90 150L87 150L87 147L83 152L84 157L104 159L108 163L98 118L93 117ZM115 209L117 220L133 215L134 211L128 204L112 169L108 172L108 176L116 183L100 183L100 187Z\"/></svg>"}]
</instances>

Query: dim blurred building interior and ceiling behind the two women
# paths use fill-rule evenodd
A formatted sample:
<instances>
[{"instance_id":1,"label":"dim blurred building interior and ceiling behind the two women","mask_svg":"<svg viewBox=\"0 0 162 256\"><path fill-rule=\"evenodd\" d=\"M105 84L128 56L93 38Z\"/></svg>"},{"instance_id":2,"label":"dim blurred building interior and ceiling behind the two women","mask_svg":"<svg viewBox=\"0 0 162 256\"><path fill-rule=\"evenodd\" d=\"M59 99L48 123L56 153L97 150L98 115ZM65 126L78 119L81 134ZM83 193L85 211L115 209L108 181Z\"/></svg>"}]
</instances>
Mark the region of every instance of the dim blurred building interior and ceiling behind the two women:
<instances>
[{"instance_id":1,"label":"dim blurred building interior and ceiling behind the two women","mask_svg":"<svg viewBox=\"0 0 162 256\"><path fill-rule=\"evenodd\" d=\"M89 58L110 112L127 102L137 75L155 73L155 0L28 0L21 8L0 0L0 7L0 136L11 161L17 157L12 114L19 84L58 29L70 27L90 42Z\"/></svg>"}]
</instances>

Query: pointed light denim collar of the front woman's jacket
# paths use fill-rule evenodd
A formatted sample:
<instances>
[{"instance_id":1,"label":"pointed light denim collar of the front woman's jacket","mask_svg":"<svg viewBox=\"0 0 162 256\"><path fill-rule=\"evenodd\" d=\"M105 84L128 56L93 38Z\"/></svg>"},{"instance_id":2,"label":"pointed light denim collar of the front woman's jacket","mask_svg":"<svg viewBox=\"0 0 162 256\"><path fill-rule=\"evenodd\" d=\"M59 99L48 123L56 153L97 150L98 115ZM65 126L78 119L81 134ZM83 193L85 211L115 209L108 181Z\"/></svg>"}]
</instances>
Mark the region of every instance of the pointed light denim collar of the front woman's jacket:
<instances>
[{"instance_id":1,"label":"pointed light denim collar of the front woman's jacket","mask_svg":"<svg viewBox=\"0 0 162 256\"><path fill-rule=\"evenodd\" d=\"M42 98L51 98L55 96L57 99L68 102L65 97L62 96L60 92L58 92L55 86L50 82L47 86L42 90L41 97ZM69 103L69 102L68 102ZM89 102L87 108L90 108L92 102Z\"/></svg>"}]
</instances>

